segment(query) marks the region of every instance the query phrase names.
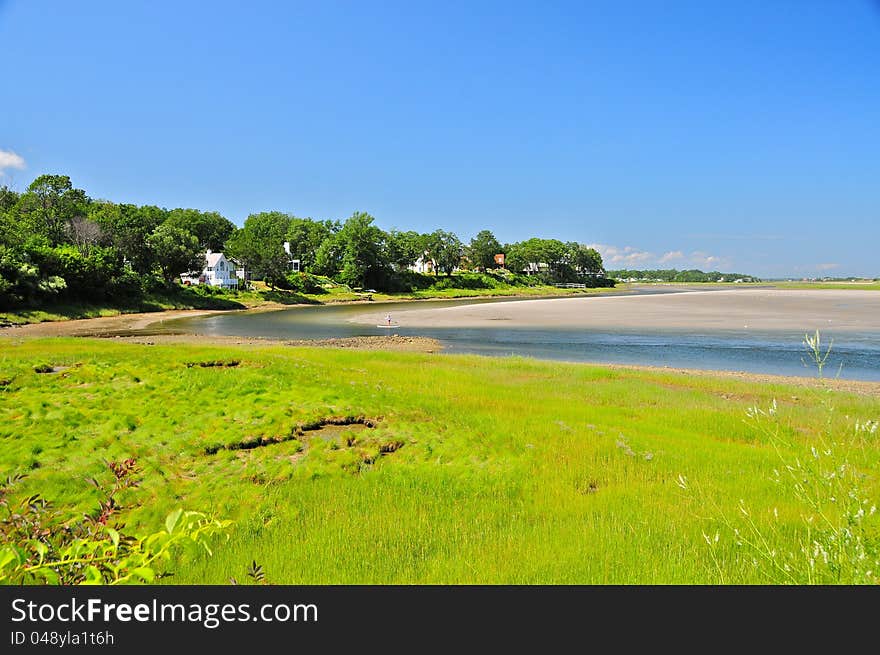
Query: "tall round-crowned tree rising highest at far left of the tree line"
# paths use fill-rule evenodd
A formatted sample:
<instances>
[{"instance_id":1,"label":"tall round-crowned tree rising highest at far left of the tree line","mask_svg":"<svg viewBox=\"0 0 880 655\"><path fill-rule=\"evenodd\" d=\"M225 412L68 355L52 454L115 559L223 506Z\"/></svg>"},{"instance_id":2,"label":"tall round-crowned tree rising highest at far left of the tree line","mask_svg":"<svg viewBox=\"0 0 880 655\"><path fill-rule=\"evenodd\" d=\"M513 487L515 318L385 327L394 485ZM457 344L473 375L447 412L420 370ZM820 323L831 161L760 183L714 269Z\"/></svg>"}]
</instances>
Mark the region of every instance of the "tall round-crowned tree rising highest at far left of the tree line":
<instances>
[{"instance_id":1,"label":"tall round-crowned tree rising highest at far left of the tree line","mask_svg":"<svg viewBox=\"0 0 880 655\"><path fill-rule=\"evenodd\" d=\"M27 227L51 246L66 241L71 221L84 216L87 207L85 192L74 189L67 175L41 175L18 201L18 212Z\"/></svg>"}]
</instances>

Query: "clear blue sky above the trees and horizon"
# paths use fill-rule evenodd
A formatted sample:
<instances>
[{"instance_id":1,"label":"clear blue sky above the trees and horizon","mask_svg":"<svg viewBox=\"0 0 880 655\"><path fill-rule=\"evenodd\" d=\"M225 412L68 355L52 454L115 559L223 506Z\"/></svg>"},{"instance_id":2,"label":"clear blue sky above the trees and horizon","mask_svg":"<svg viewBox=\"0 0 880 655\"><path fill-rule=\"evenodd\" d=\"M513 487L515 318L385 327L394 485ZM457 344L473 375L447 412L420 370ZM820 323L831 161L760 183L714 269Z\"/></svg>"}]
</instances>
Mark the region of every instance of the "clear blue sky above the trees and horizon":
<instances>
[{"instance_id":1,"label":"clear blue sky above the trees and horizon","mask_svg":"<svg viewBox=\"0 0 880 655\"><path fill-rule=\"evenodd\" d=\"M872 0L0 0L0 44L14 187L880 275Z\"/></svg>"}]
</instances>

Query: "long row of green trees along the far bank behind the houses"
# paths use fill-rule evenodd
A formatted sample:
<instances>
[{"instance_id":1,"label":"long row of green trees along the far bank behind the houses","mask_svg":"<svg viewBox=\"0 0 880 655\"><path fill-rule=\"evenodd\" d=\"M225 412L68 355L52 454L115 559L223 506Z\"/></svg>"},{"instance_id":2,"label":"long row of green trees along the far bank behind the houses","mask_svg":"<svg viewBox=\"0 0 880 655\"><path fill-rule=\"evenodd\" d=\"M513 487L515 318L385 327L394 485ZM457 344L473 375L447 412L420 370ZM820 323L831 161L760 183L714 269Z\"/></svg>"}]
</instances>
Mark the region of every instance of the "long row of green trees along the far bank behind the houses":
<instances>
[{"instance_id":1,"label":"long row of green trees along the far bank behind the houses","mask_svg":"<svg viewBox=\"0 0 880 655\"><path fill-rule=\"evenodd\" d=\"M0 305L6 307L131 300L173 289L181 275L202 269L208 249L225 252L252 279L273 288L298 283L291 259L310 274L392 291L416 283L409 269L420 259L450 276L458 269L499 268L499 254L506 256L506 269L531 267L547 282L604 279L599 253L575 242L502 244L482 230L463 243L442 229L385 231L365 212L344 221L261 212L237 228L217 212L93 199L66 175L41 175L22 192L0 186Z\"/></svg>"}]
</instances>

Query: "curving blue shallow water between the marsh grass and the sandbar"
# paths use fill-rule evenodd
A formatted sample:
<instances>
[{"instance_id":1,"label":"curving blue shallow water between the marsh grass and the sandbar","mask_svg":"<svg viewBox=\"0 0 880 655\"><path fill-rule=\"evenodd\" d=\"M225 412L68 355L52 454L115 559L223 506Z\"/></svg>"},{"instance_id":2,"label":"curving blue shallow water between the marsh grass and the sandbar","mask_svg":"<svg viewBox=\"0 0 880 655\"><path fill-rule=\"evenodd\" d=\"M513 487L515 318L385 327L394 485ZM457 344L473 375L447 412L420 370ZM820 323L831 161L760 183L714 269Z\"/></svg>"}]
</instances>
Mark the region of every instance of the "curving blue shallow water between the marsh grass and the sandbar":
<instances>
[{"instance_id":1,"label":"curving blue shallow water between the marsh grass and the sandbar","mask_svg":"<svg viewBox=\"0 0 880 655\"><path fill-rule=\"evenodd\" d=\"M653 293L673 291L652 290ZM644 293L644 291L642 292ZM483 302L516 302L513 299L426 301L425 307L448 307ZM339 306L293 307L272 312L234 313L165 322L163 332L234 335L276 339L324 339L387 335L389 330L359 325L349 319L377 310L389 313L413 309L413 302ZM158 331L158 330L154 330ZM391 330L400 335L433 337L446 353L521 355L540 359L699 368L777 375L814 375L805 365L801 331L672 330L659 328L590 330L554 328L408 328ZM826 376L880 381L880 333L828 330L833 339Z\"/></svg>"}]
</instances>

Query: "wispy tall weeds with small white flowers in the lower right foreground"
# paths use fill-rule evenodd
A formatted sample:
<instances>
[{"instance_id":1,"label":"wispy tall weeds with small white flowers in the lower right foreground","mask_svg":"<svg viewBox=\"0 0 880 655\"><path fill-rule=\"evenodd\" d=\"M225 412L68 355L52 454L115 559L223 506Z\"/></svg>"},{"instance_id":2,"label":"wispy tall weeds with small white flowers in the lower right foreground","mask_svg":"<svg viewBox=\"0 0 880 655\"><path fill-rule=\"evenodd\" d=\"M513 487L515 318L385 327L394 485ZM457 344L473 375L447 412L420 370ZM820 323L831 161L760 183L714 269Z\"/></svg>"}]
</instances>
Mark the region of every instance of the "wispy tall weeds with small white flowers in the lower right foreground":
<instances>
[{"instance_id":1,"label":"wispy tall weeds with small white flowers in the lower right foreground","mask_svg":"<svg viewBox=\"0 0 880 655\"><path fill-rule=\"evenodd\" d=\"M807 355L822 378L831 346L823 350L821 336L805 335ZM720 524L740 551L740 565L752 567L768 581L784 584L877 584L880 583L880 540L876 501L865 487L867 474L858 463L867 440L877 433L876 420L850 422L842 433L834 419L835 405L830 389L820 388L815 402L825 415L824 426L806 448L792 443L774 399L766 408L747 410L746 423L769 443L777 466L770 479L780 498L797 502L799 525L794 534L788 522L780 520L773 507L770 520L757 521L756 511L740 499L736 518L707 500L699 487L683 477L679 486L696 492L701 503L713 508L711 523ZM795 453L792 455L792 453ZM711 530L710 530L711 532ZM704 533L718 581L725 582L720 561L721 532ZM783 544L788 544L784 547ZM792 547L794 546L794 547Z\"/></svg>"}]
</instances>

